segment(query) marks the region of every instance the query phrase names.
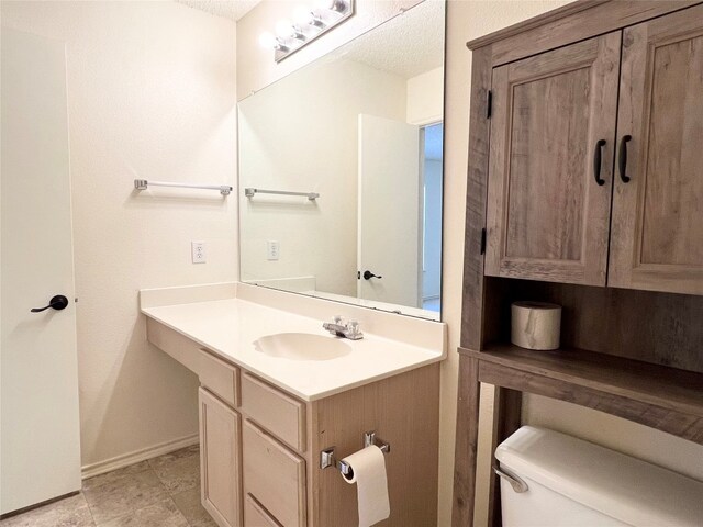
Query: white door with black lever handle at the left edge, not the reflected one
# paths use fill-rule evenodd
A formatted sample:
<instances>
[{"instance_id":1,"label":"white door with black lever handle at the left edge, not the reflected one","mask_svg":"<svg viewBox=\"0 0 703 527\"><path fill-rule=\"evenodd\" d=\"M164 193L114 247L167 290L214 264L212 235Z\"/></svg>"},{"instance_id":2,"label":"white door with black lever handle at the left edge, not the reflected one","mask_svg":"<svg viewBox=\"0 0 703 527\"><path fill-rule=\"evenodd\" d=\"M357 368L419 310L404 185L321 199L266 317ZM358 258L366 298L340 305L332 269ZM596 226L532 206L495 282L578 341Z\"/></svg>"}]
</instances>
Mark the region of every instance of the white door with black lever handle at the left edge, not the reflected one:
<instances>
[{"instance_id":1,"label":"white door with black lever handle at the left edge, not the reflected one","mask_svg":"<svg viewBox=\"0 0 703 527\"><path fill-rule=\"evenodd\" d=\"M2 27L1 63L4 514L80 489L80 436L64 44Z\"/></svg>"}]
</instances>

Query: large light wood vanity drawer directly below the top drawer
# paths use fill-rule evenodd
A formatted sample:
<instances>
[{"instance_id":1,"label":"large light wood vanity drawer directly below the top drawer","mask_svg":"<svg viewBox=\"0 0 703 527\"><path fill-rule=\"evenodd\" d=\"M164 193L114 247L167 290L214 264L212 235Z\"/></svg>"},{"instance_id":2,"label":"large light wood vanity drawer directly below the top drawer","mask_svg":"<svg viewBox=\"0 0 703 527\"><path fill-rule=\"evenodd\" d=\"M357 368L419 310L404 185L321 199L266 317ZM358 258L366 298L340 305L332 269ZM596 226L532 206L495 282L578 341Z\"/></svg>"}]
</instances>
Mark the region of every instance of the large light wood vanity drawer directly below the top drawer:
<instances>
[{"instance_id":1,"label":"large light wood vanity drawer directly below the top drawer","mask_svg":"<svg viewBox=\"0 0 703 527\"><path fill-rule=\"evenodd\" d=\"M305 461L249 419L243 431L244 493L284 527L304 527Z\"/></svg>"}]
</instances>

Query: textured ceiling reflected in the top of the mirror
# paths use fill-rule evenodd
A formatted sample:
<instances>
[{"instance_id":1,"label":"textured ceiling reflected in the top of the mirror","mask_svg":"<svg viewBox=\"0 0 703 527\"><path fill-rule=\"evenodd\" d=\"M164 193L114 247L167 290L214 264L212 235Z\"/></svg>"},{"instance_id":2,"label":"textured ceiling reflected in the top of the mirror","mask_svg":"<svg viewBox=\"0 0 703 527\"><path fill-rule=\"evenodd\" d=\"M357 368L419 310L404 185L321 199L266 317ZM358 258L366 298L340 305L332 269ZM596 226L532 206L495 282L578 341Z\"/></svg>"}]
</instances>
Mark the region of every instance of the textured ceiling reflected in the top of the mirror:
<instances>
[{"instance_id":1,"label":"textured ceiling reflected in the top of the mirror","mask_svg":"<svg viewBox=\"0 0 703 527\"><path fill-rule=\"evenodd\" d=\"M343 56L405 79L444 61L444 2L425 0L346 46Z\"/></svg>"}]
</instances>

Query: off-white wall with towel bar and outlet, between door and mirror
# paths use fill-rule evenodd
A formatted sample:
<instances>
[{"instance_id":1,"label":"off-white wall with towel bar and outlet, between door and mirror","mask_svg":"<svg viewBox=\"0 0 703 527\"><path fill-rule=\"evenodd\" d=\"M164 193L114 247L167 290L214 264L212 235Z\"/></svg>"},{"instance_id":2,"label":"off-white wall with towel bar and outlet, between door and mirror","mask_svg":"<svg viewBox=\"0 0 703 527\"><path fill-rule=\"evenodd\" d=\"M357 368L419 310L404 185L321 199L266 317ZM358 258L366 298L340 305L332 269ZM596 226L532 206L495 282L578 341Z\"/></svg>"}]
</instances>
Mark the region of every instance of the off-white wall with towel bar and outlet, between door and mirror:
<instances>
[{"instance_id":1,"label":"off-white wall with towel bar and outlet, between door and mirror","mask_svg":"<svg viewBox=\"0 0 703 527\"><path fill-rule=\"evenodd\" d=\"M83 466L197 431L194 375L146 343L137 291L235 280L235 24L175 2L3 1L66 42ZM208 262L190 264L190 240Z\"/></svg>"}]
</instances>

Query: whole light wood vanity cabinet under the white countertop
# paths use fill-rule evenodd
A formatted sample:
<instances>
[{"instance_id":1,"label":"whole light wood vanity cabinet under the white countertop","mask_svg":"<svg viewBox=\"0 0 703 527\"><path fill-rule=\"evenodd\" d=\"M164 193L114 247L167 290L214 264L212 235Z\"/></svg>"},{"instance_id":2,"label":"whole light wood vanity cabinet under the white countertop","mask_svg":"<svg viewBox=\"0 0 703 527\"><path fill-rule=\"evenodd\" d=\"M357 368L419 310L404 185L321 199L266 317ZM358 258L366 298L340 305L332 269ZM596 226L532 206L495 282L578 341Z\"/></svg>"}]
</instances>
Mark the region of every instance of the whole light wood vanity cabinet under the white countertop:
<instances>
[{"instance_id":1,"label":"whole light wood vanity cabinet under the white countertop","mask_svg":"<svg viewBox=\"0 0 703 527\"><path fill-rule=\"evenodd\" d=\"M301 401L147 318L149 341L198 373L201 497L220 527L356 527L357 490L320 467L376 431L391 516L379 527L437 524L439 363Z\"/></svg>"}]
</instances>

